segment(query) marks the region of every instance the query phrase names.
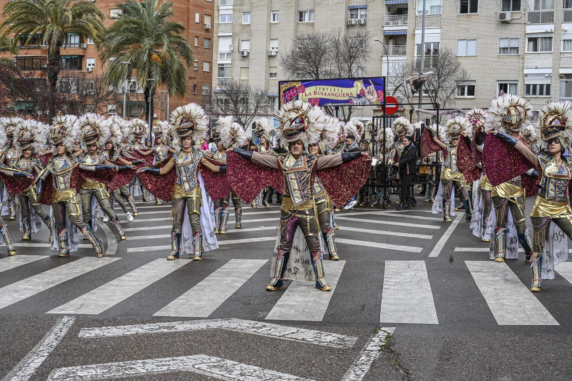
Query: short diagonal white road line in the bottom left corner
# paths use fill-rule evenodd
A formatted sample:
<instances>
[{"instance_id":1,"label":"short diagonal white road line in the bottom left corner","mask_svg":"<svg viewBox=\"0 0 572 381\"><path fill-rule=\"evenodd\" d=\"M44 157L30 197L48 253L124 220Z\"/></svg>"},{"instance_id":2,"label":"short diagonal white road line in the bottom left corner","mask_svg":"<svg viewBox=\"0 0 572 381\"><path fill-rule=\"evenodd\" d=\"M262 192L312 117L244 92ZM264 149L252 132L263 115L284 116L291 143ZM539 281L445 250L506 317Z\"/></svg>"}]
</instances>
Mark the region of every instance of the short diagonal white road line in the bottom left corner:
<instances>
[{"instance_id":1,"label":"short diagonal white road line in the bottom left corner","mask_svg":"<svg viewBox=\"0 0 572 381\"><path fill-rule=\"evenodd\" d=\"M63 316L47 331L42 340L20 360L13 370L8 372L2 381L27 381L50 355L51 351L62 341L67 330L70 329L76 318Z\"/></svg>"}]
</instances>

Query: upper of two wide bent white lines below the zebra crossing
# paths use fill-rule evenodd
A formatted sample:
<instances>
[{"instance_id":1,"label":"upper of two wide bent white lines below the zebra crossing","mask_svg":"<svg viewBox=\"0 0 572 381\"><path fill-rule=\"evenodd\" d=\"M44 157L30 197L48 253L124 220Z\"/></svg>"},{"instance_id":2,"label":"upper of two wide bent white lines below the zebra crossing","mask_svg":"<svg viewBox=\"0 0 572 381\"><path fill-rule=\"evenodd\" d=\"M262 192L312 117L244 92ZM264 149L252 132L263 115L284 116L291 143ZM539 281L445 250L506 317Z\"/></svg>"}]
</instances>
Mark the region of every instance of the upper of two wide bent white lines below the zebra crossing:
<instances>
[{"instance_id":1,"label":"upper of two wide bent white lines below the zebra crossing","mask_svg":"<svg viewBox=\"0 0 572 381\"><path fill-rule=\"evenodd\" d=\"M186 320L182 322L135 324L131 326L82 328L77 336L78 338L101 338L200 330L228 330L244 332L253 335L294 340L303 343L336 348L352 348L358 341L358 338L353 336L242 319Z\"/></svg>"}]
</instances>

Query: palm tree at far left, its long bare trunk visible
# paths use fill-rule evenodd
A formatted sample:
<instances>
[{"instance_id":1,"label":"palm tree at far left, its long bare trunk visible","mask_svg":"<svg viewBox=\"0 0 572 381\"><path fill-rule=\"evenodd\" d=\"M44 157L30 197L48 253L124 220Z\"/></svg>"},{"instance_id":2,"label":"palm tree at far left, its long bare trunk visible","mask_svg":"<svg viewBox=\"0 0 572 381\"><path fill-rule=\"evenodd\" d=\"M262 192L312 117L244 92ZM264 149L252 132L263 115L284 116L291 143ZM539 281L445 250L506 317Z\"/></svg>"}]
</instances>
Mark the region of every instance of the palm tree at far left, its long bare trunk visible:
<instances>
[{"instance_id":1,"label":"palm tree at far left, its long bare trunk visible","mask_svg":"<svg viewBox=\"0 0 572 381\"><path fill-rule=\"evenodd\" d=\"M80 43L97 40L102 33L104 14L89 1L72 0L14 0L4 6L4 22L0 28L3 38L14 37L12 50L18 41L30 45L37 36L37 44L47 46L47 82L50 87L49 117L56 111L56 85L61 57L59 51L66 46L67 37L77 34Z\"/></svg>"}]
</instances>

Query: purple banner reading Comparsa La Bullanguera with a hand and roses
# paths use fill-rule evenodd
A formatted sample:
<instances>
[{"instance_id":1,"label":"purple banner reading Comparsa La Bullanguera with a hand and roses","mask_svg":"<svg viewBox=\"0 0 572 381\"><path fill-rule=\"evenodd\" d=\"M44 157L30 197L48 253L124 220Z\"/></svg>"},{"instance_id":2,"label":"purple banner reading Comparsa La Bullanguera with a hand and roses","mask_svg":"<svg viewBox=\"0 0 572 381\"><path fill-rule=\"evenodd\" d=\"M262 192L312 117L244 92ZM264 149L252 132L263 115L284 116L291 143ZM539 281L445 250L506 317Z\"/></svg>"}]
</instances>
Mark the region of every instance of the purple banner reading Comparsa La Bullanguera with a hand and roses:
<instances>
[{"instance_id":1,"label":"purple banner reading Comparsa La Bullanguera with a hand and roses","mask_svg":"<svg viewBox=\"0 0 572 381\"><path fill-rule=\"evenodd\" d=\"M384 77L280 81L280 106L300 99L315 106L383 105Z\"/></svg>"}]
</instances>

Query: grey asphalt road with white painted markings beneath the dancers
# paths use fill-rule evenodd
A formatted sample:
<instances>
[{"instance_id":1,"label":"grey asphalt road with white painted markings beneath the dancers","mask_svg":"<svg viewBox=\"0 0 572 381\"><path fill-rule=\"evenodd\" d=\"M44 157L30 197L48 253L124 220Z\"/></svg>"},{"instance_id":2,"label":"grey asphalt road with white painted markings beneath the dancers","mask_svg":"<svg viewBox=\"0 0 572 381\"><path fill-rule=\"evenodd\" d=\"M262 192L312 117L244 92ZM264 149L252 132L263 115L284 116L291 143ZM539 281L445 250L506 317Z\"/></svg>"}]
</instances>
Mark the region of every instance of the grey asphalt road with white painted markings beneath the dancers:
<instances>
[{"instance_id":1,"label":"grey asphalt road with white painted markings beneath the dancers","mask_svg":"<svg viewBox=\"0 0 572 381\"><path fill-rule=\"evenodd\" d=\"M423 202L338 213L333 292L300 282L267 292L276 204L245 207L242 230L231 216L201 262L166 261L169 205L137 206L128 239L100 260L38 247L45 228L23 246L10 221L1 381L572 378L569 262L532 294L523 254L492 262L464 216L445 224ZM114 228L96 234L108 242Z\"/></svg>"}]
</instances>

